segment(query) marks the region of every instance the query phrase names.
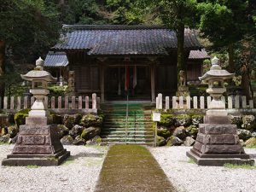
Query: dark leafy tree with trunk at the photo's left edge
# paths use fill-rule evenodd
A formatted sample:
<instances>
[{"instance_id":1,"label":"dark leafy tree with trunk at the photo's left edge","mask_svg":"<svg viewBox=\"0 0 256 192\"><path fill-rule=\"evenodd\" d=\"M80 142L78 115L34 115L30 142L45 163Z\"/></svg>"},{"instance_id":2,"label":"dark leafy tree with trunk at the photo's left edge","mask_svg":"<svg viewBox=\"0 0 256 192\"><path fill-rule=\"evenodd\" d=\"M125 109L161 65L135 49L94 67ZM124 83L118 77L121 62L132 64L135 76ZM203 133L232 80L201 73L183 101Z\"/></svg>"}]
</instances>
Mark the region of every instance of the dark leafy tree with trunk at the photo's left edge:
<instances>
[{"instance_id":1,"label":"dark leafy tree with trunk at the photo's left edge","mask_svg":"<svg viewBox=\"0 0 256 192\"><path fill-rule=\"evenodd\" d=\"M3 96L6 56L34 61L55 44L60 25L55 5L43 0L1 0L0 20L0 96Z\"/></svg>"}]
</instances>

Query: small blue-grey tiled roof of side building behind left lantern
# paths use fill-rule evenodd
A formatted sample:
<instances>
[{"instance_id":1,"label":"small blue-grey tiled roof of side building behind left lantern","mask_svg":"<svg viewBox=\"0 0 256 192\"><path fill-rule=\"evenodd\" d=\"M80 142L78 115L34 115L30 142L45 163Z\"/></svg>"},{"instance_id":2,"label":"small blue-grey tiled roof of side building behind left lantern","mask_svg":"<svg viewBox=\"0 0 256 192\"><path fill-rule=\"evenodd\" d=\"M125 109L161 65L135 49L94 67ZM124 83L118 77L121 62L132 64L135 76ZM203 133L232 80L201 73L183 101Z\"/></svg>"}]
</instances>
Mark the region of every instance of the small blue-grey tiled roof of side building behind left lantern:
<instances>
[{"instance_id":1,"label":"small blue-grey tiled roof of side building behind left lantern","mask_svg":"<svg viewBox=\"0 0 256 192\"><path fill-rule=\"evenodd\" d=\"M65 52L49 51L44 60L45 67L66 67L68 65L67 55Z\"/></svg>"}]
</instances>

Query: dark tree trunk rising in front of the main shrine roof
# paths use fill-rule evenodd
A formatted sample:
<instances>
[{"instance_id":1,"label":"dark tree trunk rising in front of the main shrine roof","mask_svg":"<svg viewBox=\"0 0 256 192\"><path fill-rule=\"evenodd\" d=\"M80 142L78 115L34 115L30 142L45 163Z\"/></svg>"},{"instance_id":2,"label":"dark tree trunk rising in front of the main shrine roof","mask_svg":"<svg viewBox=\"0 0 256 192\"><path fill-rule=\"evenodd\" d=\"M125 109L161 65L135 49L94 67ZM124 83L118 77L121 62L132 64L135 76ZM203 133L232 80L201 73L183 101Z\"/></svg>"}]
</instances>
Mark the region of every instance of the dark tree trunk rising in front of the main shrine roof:
<instances>
[{"instance_id":1,"label":"dark tree trunk rising in front of the main shrine roof","mask_svg":"<svg viewBox=\"0 0 256 192\"><path fill-rule=\"evenodd\" d=\"M184 29L185 26L181 24L177 28L177 84L179 85L179 72L184 71L187 76L186 67L184 67Z\"/></svg>"}]
</instances>

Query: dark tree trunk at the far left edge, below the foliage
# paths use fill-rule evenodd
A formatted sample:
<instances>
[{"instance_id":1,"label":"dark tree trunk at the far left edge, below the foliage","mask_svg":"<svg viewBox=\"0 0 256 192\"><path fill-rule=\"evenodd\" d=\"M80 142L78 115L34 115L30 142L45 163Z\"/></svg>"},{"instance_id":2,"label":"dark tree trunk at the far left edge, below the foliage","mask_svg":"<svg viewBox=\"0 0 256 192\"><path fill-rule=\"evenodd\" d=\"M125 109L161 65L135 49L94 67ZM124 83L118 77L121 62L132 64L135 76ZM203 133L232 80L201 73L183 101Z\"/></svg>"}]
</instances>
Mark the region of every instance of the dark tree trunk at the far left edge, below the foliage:
<instances>
[{"instance_id":1,"label":"dark tree trunk at the far left edge, below the foliage","mask_svg":"<svg viewBox=\"0 0 256 192\"><path fill-rule=\"evenodd\" d=\"M4 74L4 56L5 56L5 42L0 40L0 96L4 96L4 81L3 81L3 74ZM2 99L3 102L3 99Z\"/></svg>"}]
</instances>

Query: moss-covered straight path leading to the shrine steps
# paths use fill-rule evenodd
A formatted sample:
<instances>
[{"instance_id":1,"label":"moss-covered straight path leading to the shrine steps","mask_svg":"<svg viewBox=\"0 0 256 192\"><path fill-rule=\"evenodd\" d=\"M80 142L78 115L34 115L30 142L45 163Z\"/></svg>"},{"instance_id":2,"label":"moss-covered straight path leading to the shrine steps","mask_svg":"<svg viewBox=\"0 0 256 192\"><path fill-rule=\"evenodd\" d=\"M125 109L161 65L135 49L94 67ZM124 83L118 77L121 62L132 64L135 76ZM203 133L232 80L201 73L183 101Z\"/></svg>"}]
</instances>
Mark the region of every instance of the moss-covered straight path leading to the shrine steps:
<instances>
[{"instance_id":1,"label":"moss-covered straight path leading to the shrine steps","mask_svg":"<svg viewBox=\"0 0 256 192\"><path fill-rule=\"evenodd\" d=\"M147 148L114 145L104 160L96 192L175 191Z\"/></svg>"}]
</instances>

